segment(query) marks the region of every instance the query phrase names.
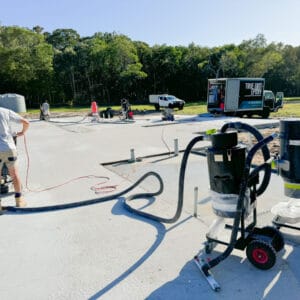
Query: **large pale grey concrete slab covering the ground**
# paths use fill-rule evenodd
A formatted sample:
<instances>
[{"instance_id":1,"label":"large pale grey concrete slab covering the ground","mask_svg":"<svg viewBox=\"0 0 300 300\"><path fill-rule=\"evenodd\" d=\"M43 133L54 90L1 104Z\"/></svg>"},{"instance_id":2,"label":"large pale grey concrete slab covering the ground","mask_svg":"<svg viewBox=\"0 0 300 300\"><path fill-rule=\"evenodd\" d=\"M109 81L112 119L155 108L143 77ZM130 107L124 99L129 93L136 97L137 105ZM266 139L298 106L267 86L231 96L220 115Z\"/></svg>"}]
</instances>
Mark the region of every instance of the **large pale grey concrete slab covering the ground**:
<instances>
[{"instance_id":1,"label":"large pale grey concrete slab covering the ground","mask_svg":"<svg viewBox=\"0 0 300 300\"><path fill-rule=\"evenodd\" d=\"M25 141L18 140L28 206L103 197L108 194L95 194L91 187L116 185L112 193L119 192L152 170L163 177L164 193L154 202L144 199L133 205L172 216L181 155L148 157L133 164L102 164L129 159L131 149L137 157L172 152L174 139L178 139L180 149L185 149L197 132L220 128L232 120L252 125L278 123L271 119L201 116L176 116L176 122L168 123L157 114L136 116L134 123L115 119L92 123L82 117L57 118L50 123L31 120L27 151ZM103 183L104 176L109 181ZM132 193L151 191L156 186L153 180L147 180ZM195 186L199 187L198 218L192 216ZM234 250L212 269L221 291L210 289L192 261L203 248L205 234L215 218L208 192L206 160L191 155L184 210L175 224L160 224L129 213L122 197L63 211L2 215L0 298L297 299L300 240L297 231L288 229L282 230L286 245L272 269L258 270L243 251ZM258 199L259 225L271 224L270 208L282 199L282 180L272 175L267 191ZM2 197L2 203L13 204L13 194ZM211 256L222 251L224 246L218 245Z\"/></svg>"}]
</instances>

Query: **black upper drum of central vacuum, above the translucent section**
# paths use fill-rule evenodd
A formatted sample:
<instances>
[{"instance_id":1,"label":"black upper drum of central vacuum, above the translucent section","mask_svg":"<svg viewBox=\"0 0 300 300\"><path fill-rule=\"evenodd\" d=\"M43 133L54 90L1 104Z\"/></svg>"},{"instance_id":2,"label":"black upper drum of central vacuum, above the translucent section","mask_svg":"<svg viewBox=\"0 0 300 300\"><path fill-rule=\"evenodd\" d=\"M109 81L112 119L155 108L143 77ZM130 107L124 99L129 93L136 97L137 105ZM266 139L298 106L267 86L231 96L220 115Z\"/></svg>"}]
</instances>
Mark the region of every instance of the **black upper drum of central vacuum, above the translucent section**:
<instances>
[{"instance_id":1,"label":"black upper drum of central vacuum, above the translucent section","mask_svg":"<svg viewBox=\"0 0 300 300\"><path fill-rule=\"evenodd\" d=\"M211 136L207 149L210 188L221 194L239 194L245 168L246 147L237 145L237 132Z\"/></svg>"}]
</instances>

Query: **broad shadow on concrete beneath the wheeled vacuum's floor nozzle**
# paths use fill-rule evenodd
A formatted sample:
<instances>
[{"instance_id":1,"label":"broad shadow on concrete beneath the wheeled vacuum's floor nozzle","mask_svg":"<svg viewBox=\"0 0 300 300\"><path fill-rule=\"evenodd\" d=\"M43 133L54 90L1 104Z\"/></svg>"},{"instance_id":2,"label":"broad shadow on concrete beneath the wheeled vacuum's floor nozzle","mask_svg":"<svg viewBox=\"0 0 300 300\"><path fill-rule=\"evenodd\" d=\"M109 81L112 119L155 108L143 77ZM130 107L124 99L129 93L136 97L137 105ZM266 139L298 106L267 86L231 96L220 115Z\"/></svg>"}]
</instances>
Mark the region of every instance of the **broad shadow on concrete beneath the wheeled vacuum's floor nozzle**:
<instances>
[{"instance_id":1,"label":"broad shadow on concrete beneath the wheeled vacuum's floor nozzle","mask_svg":"<svg viewBox=\"0 0 300 300\"><path fill-rule=\"evenodd\" d=\"M220 252L214 251L217 256ZM247 259L232 254L213 268L221 291L213 291L193 259L181 269L178 277L153 291L146 299L298 299L300 292L300 270L297 268L296 253L292 251L282 259L285 251L278 254L277 263L270 270L259 270ZM295 263L291 271L290 264Z\"/></svg>"}]
</instances>

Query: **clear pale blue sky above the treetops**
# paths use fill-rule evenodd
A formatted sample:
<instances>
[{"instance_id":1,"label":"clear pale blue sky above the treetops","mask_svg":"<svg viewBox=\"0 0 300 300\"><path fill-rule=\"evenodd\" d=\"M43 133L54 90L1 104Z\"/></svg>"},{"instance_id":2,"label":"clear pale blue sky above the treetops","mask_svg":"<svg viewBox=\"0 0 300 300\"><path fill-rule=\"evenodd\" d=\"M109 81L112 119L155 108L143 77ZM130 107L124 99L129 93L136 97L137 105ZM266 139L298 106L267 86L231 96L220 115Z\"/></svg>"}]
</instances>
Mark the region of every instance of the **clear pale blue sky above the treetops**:
<instances>
[{"instance_id":1,"label":"clear pale blue sky above the treetops","mask_svg":"<svg viewBox=\"0 0 300 300\"><path fill-rule=\"evenodd\" d=\"M150 46L239 44L258 33L300 46L300 0L0 0L0 24L117 32Z\"/></svg>"}]
</instances>

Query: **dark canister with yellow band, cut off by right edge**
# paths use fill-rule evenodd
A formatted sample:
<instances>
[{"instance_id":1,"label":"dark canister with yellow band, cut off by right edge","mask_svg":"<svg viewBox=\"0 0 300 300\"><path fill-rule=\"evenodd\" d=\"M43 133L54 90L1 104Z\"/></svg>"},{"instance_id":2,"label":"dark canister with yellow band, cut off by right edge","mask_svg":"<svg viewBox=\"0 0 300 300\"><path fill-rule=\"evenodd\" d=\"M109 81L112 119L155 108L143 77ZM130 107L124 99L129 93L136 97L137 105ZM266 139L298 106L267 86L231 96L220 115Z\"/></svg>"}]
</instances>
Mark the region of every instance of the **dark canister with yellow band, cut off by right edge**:
<instances>
[{"instance_id":1,"label":"dark canister with yellow band, cut off by right edge","mask_svg":"<svg viewBox=\"0 0 300 300\"><path fill-rule=\"evenodd\" d=\"M280 121L280 158L284 194L300 198L300 119Z\"/></svg>"}]
</instances>

